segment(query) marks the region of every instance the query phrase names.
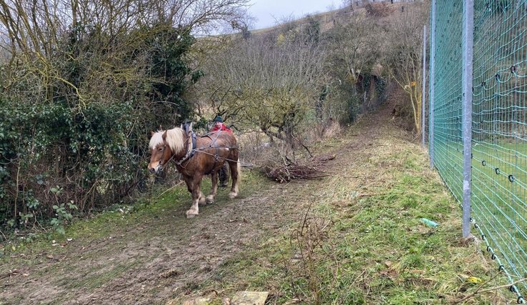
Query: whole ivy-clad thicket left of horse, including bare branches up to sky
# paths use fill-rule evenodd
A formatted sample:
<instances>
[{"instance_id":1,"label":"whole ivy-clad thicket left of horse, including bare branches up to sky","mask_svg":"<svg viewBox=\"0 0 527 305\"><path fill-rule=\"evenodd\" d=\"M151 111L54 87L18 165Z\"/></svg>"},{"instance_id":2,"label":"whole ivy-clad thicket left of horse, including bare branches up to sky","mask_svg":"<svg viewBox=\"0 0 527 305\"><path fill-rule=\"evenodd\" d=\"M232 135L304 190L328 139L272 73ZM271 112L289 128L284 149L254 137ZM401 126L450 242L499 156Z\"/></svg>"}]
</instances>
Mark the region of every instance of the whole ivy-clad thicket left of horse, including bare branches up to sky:
<instances>
[{"instance_id":1,"label":"whole ivy-clad thicket left of horse, including bare branches up to sky","mask_svg":"<svg viewBox=\"0 0 527 305\"><path fill-rule=\"evenodd\" d=\"M144 184L148 132L193 115L195 36L244 19L246 3L0 0L0 226Z\"/></svg>"}]
</instances>

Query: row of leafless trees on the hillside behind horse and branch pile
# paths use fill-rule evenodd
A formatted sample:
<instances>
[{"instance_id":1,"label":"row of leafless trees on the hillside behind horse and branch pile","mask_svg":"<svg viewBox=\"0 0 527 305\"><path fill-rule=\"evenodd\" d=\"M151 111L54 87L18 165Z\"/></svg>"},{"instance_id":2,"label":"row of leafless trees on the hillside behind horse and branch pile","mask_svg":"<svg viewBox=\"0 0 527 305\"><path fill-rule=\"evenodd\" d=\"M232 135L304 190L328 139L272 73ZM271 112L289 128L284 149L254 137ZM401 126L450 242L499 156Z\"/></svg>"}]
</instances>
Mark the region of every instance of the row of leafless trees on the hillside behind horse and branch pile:
<instances>
[{"instance_id":1,"label":"row of leafless trees on the hillside behind horse and branch pile","mask_svg":"<svg viewBox=\"0 0 527 305\"><path fill-rule=\"evenodd\" d=\"M294 147L303 144L304 131L348 124L363 104L378 104L386 80L373 71L380 49L371 21L358 14L322 26L308 16L233 36L204 62L204 79L196 84L204 108Z\"/></svg>"}]
</instances>

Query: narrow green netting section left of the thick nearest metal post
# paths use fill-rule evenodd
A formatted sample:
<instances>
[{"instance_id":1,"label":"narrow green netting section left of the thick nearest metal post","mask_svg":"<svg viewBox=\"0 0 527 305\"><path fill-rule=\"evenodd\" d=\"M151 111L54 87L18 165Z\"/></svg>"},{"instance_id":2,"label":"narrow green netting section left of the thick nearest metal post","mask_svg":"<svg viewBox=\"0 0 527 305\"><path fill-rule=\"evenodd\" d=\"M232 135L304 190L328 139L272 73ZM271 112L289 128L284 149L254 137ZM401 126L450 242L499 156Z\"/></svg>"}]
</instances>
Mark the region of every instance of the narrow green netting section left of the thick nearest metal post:
<instances>
[{"instance_id":1,"label":"narrow green netting section left of the thick nearest metal post","mask_svg":"<svg viewBox=\"0 0 527 305\"><path fill-rule=\"evenodd\" d=\"M463 197L461 138L461 32L463 4L442 1L436 9L434 163L456 199Z\"/></svg>"}]
</instances>

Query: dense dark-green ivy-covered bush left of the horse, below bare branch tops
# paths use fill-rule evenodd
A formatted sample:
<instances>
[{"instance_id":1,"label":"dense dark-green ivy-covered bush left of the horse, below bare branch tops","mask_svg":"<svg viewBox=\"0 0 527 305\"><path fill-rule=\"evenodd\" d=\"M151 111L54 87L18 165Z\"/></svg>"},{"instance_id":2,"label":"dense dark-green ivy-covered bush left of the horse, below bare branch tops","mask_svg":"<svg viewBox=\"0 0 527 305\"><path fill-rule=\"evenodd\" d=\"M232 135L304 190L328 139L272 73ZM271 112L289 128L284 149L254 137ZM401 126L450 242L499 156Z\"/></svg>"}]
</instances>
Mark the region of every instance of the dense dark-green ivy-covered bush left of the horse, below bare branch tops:
<instances>
[{"instance_id":1,"label":"dense dark-green ivy-covered bush left of the horse, below bare branch tops","mask_svg":"<svg viewBox=\"0 0 527 305\"><path fill-rule=\"evenodd\" d=\"M46 65L0 69L22 79L0 95L1 228L62 231L125 200L146 179L149 131L193 116L184 94L202 74L184 58L194 37L166 24L129 35L135 49L105 56L104 34L79 25Z\"/></svg>"}]
</instances>

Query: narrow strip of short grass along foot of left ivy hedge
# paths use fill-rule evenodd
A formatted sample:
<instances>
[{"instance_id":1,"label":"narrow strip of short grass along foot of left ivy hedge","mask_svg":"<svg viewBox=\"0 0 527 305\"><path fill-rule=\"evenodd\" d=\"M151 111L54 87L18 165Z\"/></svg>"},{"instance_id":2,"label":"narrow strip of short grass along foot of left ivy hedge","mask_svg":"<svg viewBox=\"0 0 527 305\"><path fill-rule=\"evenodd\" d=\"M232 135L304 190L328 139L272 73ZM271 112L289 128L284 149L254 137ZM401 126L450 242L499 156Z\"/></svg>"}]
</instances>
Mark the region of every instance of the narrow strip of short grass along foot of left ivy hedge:
<instances>
[{"instance_id":1,"label":"narrow strip of short grass along foot of left ivy hedge","mask_svg":"<svg viewBox=\"0 0 527 305\"><path fill-rule=\"evenodd\" d=\"M244 171L242 179L244 196L250 196L261 191L271 183L266 181L257 171L250 170ZM208 191L210 187L210 179L204 179L201 190ZM1 265L9 266L9 264L24 263L32 266L39 264L39 261L26 259L26 256L31 257L42 252L58 256L67 251L61 246L50 247L51 244L67 244L68 239L73 239L79 244L108 239L111 236L124 234L130 228L155 225L154 223L161 217L167 216L169 211L183 209L184 206L189 205L191 197L183 184L175 186L170 191L164 191L166 191L166 185L154 186L151 194L146 194L138 199L136 204L115 206L114 209L95 214L89 219L75 219L69 226L66 226L66 234L64 235L55 231L46 231L34 234L31 239L10 239L2 248L0 272L4 271ZM219 191L216 200L226 201L227 195L227 191ZM90 254L85 255L89 256Z\"/></svg>"}]
</instances>

